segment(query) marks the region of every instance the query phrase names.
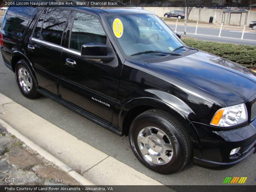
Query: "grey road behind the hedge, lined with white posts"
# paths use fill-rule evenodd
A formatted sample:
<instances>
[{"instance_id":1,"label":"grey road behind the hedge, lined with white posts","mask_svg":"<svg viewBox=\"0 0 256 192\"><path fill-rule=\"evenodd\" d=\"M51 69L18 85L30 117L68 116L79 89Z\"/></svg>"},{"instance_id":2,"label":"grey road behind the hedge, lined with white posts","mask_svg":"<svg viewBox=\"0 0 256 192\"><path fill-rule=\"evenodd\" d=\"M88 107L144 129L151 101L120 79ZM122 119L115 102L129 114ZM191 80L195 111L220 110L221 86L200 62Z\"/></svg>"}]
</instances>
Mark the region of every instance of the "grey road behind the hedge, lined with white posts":
<instances>
[{"instance_id":1,"label":"grey road behind the hedge, lined with white posts","mask_svg":"<svg viewBox=\"0 0 256 192\"><path fill-rule=\"evenodd\" d=\"M168 26L175 31L176 24L168 24ZM184 32L184 25L177 25L177 32L183 34ZM221 37L214 37L219 36L220 28L207 28L207 27L197 27L197 35L194 35L196 32L196 26L187 26L187 34L188 36L196 37L201 40L205 41L219 41L225 43L234 43L234 44L247 44L247 45L256 45L256 31L252 30L245 30L244 33L244 40L241 40L243 30L235 30L235 29L224 29L222 28ZM205 36L208 35L208 36ZM223 38L228 37L228 38ZM238 38L238 39L230 39ZM246 40L245 40L246 39ZM254 41L248 41L254 40Z\"/></svg>"}]
</instances>

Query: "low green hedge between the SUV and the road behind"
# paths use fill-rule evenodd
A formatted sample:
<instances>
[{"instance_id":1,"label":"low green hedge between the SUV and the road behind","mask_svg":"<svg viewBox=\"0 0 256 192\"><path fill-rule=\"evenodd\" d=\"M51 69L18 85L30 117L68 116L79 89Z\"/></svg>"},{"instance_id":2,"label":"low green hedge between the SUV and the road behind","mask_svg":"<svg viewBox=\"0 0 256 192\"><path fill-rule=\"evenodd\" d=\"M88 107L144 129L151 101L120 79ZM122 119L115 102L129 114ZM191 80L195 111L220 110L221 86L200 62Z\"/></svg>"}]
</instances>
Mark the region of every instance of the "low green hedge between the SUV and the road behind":
<instances>
[{"instance_id":1,"label":"low green hedge between the SUV and the road behind","mask_svg":"<svg viewBox=\"0 0 256 192\"><path fill-rule=\"evenodd\" d=\"M237 45L183 38L182 41L196 49L234 61L248 68L256 68L256 46Z\"/></svg>"}]
</instances>

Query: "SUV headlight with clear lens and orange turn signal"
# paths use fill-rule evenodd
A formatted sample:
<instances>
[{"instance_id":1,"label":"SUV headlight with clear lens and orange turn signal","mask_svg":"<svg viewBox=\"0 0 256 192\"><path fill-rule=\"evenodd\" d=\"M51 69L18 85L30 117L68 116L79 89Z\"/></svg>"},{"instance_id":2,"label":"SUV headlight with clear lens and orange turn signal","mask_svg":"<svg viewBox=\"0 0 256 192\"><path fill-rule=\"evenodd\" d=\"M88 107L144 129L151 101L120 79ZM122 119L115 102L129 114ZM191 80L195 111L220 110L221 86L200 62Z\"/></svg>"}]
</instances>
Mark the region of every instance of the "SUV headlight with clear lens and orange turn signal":
<instances>
[{"instance_id":1,"label":"SUV headlight with clear lens and orange turn signal","mask_svg":"<svg viewBox=\"0 0 256 192\"><path fill-rule=\"evenodd\" d=\"M244 103L219 109L212 118L211 125L230 127L248 120Z\"/></svg>"}]
</instances>

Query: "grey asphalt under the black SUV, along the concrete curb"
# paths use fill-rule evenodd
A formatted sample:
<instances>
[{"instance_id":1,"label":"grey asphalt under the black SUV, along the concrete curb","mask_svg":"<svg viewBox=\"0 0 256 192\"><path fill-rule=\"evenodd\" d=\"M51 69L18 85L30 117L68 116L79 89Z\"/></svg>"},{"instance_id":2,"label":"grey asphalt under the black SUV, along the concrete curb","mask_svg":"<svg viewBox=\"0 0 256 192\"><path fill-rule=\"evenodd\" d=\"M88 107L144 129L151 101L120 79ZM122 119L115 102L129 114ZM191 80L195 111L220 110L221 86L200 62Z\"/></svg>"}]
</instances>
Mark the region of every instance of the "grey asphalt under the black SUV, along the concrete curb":
<instances>
[{"instance_id":1,"label":"grey asphalt under the black SUV, along the concrete curb","mask_svg":"<svg viewBox=\"0 0 256 192\"><path fill-rule=\"evenodd\" d=\"M14 73L4 66L1 54L0 84L0 92L5 96L78 139L165 185L222 185L227 176L248 177L245 184L256 184L256 154L251 154L244 161L228 169L209 169L190 162L182 171L172 175L161 175L150 171L140 164L133 155L128 137L119 137L44 96L36 100L25 98L17 87ZM20 115L22 116L23 114ZM74 146L74 148L76 147L78 148L79 146Z\"/></svg>"}]
</instances>

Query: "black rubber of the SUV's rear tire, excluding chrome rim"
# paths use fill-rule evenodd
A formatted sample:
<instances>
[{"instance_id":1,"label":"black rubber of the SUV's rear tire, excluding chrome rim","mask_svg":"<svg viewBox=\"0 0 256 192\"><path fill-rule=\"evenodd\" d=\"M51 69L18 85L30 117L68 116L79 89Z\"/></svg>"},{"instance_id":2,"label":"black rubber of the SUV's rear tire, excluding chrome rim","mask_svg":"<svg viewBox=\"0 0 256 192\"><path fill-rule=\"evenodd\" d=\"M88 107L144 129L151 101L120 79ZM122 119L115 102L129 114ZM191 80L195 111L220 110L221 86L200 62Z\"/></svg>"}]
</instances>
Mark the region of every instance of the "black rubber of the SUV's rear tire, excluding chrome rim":
<instances>
[{"instance_id":1,"label":"black rubber of the SUV's rear tire, excluding chrome rim","mask_svg":"<svg viewBox=\"0 0 256 192\"><path fill-rule=\"evenodd\" d=\"M26 81L30 83L31 86L28 86L29 90L25 90L22 87L22 83L19 81L19 70L23 69L22 71L25 71L25 74L28 74L28 78ZM20 89L20 92L29 99L35 99L40 96L40 94L37 92L37 84L34 76L31 73L30 68L28 67L28 64L25 60L19 60L15 67L15 76L16 76L16 82L18 84L18 87ZM24 82L24 81L23 81Z\"/></svg>"}]
</instances>

